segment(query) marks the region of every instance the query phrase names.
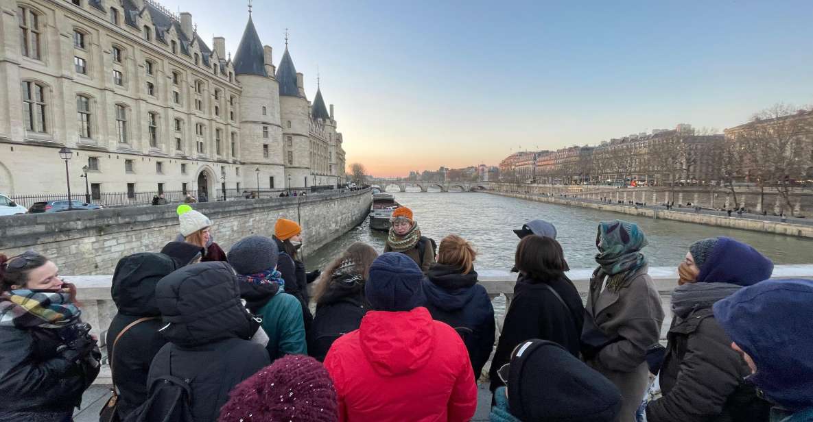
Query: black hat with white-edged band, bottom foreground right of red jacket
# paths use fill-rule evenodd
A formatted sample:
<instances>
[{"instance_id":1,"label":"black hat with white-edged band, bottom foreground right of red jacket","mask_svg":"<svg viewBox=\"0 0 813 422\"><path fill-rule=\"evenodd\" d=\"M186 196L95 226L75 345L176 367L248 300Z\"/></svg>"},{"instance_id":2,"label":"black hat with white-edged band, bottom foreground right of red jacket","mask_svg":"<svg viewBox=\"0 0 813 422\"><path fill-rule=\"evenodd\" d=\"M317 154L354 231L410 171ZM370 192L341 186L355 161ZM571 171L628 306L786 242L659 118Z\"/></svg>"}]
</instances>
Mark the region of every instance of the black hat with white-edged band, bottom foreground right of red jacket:
<instances>
[{"instance_id":1,"label":"black hat with white-edged band, bottom foreground right of red jacket","mask_svg":"<svg viewBox=\"0 0 813 422\"><path fill-rule=\"evenodd\" d=\"M547 340L514 349L507 390L511 415L523 422L606 422L621 407L612 382Z\"/></svg>"}]
</instances>

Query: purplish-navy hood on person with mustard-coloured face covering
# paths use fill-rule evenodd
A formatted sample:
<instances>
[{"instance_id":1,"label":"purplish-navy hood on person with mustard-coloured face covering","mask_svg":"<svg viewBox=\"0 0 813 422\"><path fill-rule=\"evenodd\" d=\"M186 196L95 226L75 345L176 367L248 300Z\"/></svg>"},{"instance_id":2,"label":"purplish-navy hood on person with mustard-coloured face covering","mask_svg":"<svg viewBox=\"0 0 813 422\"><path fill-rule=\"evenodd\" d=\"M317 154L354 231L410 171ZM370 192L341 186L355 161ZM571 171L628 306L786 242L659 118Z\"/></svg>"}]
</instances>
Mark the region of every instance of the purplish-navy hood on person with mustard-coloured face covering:
<instances>
[{"instance_id":1,"label":"purplish-navy hood on person with mustard-coloured face covering","mask_svg":"<svg viewBox=\"0 0 813 422\"><path fill-rule=\"evenodd\" d=\"M728 282L751 286L771 278L773 262L749 244L722 237L700 267L698 282Z\"/></svg>"}]
</instances>

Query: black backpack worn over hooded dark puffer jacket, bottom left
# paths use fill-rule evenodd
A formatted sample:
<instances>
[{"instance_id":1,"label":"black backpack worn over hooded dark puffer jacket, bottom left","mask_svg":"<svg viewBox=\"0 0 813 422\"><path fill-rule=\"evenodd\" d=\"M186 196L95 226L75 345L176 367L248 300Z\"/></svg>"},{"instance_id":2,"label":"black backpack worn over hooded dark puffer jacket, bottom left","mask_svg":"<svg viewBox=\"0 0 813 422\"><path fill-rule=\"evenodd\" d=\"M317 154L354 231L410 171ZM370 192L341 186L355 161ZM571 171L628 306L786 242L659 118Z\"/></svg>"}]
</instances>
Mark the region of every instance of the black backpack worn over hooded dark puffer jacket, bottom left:
<instances>
[{"instance_id":1,"label":"black backpack worn over hooded dark puffer jacket, bottom left","mask_svg":"<svg viewBox=\"0 0 813 422\"><path fill-rule=\"evenodd\" d=\"M173 376L172 347L168 356L169 375L158 377L148 385L146 402L131 412L124 422L195 422L192 415L191 386L194 378L180 379Z\"/></svg>"}]
</instances>

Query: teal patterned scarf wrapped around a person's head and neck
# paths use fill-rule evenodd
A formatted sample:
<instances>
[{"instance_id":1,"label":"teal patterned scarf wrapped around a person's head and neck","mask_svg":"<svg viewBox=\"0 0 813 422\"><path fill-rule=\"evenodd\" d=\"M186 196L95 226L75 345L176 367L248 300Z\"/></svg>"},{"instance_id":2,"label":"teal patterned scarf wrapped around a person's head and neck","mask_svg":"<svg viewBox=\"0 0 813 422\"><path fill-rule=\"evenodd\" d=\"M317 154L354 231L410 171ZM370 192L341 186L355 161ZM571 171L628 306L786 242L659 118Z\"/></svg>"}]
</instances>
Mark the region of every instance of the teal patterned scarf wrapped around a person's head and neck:
<instances>
[{"instance_id":1,"label":"teal patterned scarf wrapped around a person's head and neck","mask_svg":"<svg viewBox=\"0 0 813 422\"><path fill-rule=\"evenodd\" d=\"M610 277L607 288L619 291L637 269L646 265L646 257L638 251L647 243L644 232L633 222L598 223L596 262L599 267L595 279L603 280L606 274Z\"/></svg>"}]
</instances>

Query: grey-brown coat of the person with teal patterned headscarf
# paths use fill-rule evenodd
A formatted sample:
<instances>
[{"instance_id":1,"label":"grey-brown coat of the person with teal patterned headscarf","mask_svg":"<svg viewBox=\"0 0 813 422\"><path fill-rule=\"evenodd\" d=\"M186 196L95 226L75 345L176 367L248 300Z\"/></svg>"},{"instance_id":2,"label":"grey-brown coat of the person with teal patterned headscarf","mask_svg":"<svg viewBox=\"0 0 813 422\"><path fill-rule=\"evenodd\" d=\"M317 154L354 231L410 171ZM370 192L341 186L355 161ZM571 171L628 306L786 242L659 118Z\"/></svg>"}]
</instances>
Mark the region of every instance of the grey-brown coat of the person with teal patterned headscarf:
<instances>
[{"instance_id":1,"label":"grey-brown coat of the person with teal patterned headscarf","mask_svg":"<svg viewBox=\"0 0 813 422\"><path fill-rule=\"evenodd\" d=\"M649 384L646 350L658 342L663 324L660 295L646 271L646 267L637 270L617 293L602 291L605 280L593 278L585 307L607 338L622 338L587 362L621 390L619 422L635 420Z\"/></svg>"}]
</instances>

